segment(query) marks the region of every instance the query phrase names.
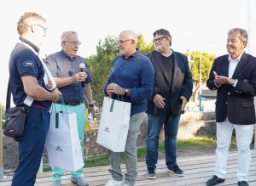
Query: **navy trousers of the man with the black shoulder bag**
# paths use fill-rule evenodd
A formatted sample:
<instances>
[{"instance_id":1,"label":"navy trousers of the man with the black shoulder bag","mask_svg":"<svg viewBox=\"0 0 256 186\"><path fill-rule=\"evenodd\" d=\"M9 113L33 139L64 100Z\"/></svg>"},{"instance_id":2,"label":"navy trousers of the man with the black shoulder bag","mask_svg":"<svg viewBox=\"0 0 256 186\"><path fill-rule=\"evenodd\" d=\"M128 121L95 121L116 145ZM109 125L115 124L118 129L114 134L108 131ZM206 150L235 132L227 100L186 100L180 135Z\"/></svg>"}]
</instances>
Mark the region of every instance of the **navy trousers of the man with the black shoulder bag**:
<instances>
[{"instance_id":1,"label":"navy trousers of the man with the black shoulder bag","mask_svg":"<svg viewBox=\"0 0 256 186\"><path fill-rule=\"evenodd\" d=\"M49 129L49 110L31 107L24 133L19 141L19 165L12 186L33 186L41 163L45 138Z\"/></svg>"}]
</instances>

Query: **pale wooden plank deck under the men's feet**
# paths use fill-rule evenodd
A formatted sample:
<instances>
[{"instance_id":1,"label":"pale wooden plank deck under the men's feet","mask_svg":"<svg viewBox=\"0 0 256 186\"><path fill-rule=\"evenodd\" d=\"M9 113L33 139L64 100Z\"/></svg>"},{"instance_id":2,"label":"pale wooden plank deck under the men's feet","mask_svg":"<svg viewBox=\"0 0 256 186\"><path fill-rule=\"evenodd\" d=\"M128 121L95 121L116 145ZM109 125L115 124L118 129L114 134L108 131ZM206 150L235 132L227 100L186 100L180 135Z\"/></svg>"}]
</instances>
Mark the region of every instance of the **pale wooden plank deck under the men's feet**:
<instances>
[{"instance_id":1,"label":"pale wooden plank deck under the men's feet","mask_svg":"<svg viewBox=\"0 0 256 186\"><path fill-rule=\"evenodd\" d=\"M177 159L178 165L182 167L185 172L184 177L177 177L170 172L167 172L165 160L160 160L156 169L156 179L150 180L146 178L146 164L145 162L138 163L138 177L136 186L148 185L148 186L205 186L206 181L213 176L213 169L215 166L215 155L204 156L191 156ZM125 172L125 165L122 165L122 171ZM89 181L90 186L102 186L108 182L110 173L108 172L109 166L97 166L84 168L83 176ZM237 172L237 153L231 153L229 155L229 161L227 166L227 178L224 183L218 184L218 186L224 185L236 185L236 172ZM249 172L249 184L256 186L256 153L252 151L252 162ZM9 186L11 183L9 177L7 181L0 182L0 186ZM36 186L51 186L51 172L38 173ZM65 172L61 178L61 185L74 186L75 184L70 181L70 172Z\"/></svg>"}]
</instances>

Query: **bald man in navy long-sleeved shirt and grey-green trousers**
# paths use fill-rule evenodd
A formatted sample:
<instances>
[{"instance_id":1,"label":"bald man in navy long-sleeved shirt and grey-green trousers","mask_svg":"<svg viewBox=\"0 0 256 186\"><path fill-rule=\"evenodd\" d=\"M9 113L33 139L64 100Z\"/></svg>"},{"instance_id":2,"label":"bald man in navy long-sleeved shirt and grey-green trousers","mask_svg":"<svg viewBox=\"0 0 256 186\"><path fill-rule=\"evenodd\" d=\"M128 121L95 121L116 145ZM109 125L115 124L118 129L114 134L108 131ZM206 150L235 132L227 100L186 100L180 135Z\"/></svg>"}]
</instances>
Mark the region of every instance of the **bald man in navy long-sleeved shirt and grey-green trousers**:
<instances>
[{"instance_id":1,"label":"bald man in navy long-sleeved shirt and grey-green trousers","mask_svg":"<svg viewBox=\"0 0 256 186\"><path fill-rule=\"evenodd\" d=\"M137 48L137 34L122 31L117 47L119 56L113 59L112 69L104 92L113 99L122 95L123 101L131 103L131 117L125 144L125 181L120 167L119 153L108 150L112 178L106 186L133 186L137 179L137 134L146 110L146 99L153 93L154 70L150 60ZM120 97L120 96L119 96Z\"/></svg>"}]
</instances>

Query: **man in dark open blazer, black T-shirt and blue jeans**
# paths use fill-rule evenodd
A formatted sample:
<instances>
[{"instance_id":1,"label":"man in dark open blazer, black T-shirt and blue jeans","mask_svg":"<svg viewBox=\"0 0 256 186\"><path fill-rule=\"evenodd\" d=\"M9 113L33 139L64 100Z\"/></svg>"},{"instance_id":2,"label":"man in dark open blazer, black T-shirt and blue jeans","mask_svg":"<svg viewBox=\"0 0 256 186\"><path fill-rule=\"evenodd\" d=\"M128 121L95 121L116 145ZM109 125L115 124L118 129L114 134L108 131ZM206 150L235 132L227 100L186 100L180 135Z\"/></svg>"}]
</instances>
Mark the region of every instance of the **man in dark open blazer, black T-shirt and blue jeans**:
<instances>
[{"instance_id":1,"label":"man in dark open blazer, black T-shirt and blue jeans","mask_svg":"<svg viewBox=\"0 0 256 186\"><path fill-rule=\"evenodd\" d=\"M177 166L176 138L180 116L192 95L193 82L188 58L173 51L169 31L154 31L154 48L147 54L154 67L154 93L148 99L147 178L154 179L158 160L160 130L164 125L166 166L169 172L183 176Z\"/></svg>"}]
</instances>

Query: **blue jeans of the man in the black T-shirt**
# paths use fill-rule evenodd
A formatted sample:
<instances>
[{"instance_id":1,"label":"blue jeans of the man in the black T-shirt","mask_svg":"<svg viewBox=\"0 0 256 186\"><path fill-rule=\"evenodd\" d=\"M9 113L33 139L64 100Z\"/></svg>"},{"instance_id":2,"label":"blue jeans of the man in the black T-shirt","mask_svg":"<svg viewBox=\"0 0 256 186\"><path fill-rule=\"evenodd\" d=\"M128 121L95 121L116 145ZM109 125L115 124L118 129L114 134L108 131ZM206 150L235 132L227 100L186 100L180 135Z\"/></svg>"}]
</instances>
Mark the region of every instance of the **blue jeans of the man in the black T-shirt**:
<instances>
[{"instance_id":1,"label":"blue jeans of the man in the black T-shirt","mask_svg":"<svg viewBox=\"0 0 256 186\"><path fill-rule=\"evenodd\" d=\"M160 131L164 125L165 130L165 149L166 166L176 166L176 138L180 115L149 115L148 114L148 138L146 164L148 167L156 167L158 160L158 146Z\"/></svg>"}]
</instances>

